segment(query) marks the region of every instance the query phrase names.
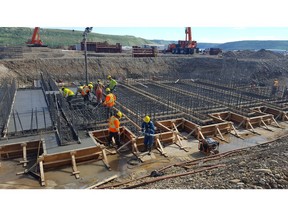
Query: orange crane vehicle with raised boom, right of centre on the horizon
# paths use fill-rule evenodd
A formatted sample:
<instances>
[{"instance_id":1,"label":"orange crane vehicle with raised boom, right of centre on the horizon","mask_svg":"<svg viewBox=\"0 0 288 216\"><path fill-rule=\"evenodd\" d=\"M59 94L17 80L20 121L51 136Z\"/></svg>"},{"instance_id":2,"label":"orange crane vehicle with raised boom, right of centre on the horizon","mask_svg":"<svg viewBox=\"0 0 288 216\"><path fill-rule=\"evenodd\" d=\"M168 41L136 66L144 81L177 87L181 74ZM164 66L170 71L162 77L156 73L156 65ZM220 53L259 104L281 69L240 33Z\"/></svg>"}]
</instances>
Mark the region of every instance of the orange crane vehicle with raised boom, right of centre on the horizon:
<instances>
[{"instance_id":1,"label":"orange crane vehicle with raised boom, right of centre on the horizon","mask_svg":"<svg viewBox=\"0 0 288 216\"><path fill-rule=\"evenodd\" d=\"M172 54L194 54L199 52L197 48L197 41L192 40L191 27L185 28L185 40L178 40L178 44L169 44L165 52Z\"/></svg>"}]
</instances>

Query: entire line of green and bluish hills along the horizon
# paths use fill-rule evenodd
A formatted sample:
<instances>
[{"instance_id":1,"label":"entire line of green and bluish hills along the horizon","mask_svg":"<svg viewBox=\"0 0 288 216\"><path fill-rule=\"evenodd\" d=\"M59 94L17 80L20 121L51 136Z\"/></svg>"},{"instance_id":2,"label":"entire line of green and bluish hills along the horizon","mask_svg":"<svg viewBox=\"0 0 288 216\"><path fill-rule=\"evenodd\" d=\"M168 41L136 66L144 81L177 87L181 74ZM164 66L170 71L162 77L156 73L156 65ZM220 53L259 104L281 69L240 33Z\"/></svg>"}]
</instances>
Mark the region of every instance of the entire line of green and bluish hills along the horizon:
<instances>
[{"instance_id":1,"label":"entire line of green and bluish hills along the horizon","mask_svg":"<svg viewBox=\"0 0 288 216\"><path fill-rule=\"evenodd\" d=\"M26 46L25 42L31 39L34 28L0 27L0 46ZM84 31L84 28L83 28ZM40 39L45 45L51 48L65 48L79 44L83 40L83 31L43 29L40 28ZM177 41L146 40L130 35L107 35L89 33L87 41L104 42L109 44L120 43L122 46L141 46L143 44L164 44L177 43ZM198 47L205 49L219 47L223 50L259 50L259 49L288 49L288 41L236 41L223 44L201 43Z\"/></svg>"}]
</instances>

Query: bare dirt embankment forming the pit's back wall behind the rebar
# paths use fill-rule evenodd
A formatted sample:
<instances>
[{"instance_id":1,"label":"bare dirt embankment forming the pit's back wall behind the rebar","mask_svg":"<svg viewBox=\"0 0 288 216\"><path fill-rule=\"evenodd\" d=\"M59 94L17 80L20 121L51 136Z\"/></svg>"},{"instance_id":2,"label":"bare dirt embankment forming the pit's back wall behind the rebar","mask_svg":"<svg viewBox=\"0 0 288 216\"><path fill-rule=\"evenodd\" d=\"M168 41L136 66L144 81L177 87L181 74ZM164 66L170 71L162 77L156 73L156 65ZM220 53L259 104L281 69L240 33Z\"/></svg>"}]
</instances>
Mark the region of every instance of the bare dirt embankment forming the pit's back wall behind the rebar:
<instances>
[{"instance_id":1,"label":"bare dirt embankment forming the pit's back wall behind the rebar","mask_svg":"<svg viewBox=\"0 0 288 216\"><path fill-rule=\"evenodd\" d=\"M246 57L245 57L246 56ZM20 84L29 84L39 79L40 72L49 72L55 79L85 80L84 57L24 58L0 61L0 78L15 77ZM270 83L275 77L286 77L288 59L269 51L226 53L213 56L171 56L157 58L132 58L130 56L103 56L88 58L90 80L105 78L163 79L193 78L219 82L250 83L251 80ZM283 80L282 80L283 81ZM284 80L286 82L286 80ZM284 82L283 81L283 82ZM286 83L283 83L286 85Z\"/></svg>"}]
</instances>

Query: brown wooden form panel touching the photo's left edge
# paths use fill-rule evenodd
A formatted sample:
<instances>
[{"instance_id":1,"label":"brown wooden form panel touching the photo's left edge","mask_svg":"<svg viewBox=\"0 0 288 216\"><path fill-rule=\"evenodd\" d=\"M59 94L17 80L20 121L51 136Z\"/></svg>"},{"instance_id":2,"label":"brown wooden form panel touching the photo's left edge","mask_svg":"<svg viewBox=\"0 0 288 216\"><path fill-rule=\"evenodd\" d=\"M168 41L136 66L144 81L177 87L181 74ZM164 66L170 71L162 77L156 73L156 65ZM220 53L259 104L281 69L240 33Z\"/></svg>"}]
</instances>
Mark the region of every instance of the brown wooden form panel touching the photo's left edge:
<instances>
[{"instance_id":1,"label":"brown wooden form panel touching the photo's left edge","mask_svg":"<svg viewBox=\"0 0 288 216\"><path fill-rule=\"evenodd\" d=\"M38 149L39 153L43 153L42 141L29 141L23 143L13 143L8 145L0 146L0 156L2 159L13 159L19 158L23 155L23 145L26 144L26 153L29 155L37 155Z\"/></svg>"}]
</instances>

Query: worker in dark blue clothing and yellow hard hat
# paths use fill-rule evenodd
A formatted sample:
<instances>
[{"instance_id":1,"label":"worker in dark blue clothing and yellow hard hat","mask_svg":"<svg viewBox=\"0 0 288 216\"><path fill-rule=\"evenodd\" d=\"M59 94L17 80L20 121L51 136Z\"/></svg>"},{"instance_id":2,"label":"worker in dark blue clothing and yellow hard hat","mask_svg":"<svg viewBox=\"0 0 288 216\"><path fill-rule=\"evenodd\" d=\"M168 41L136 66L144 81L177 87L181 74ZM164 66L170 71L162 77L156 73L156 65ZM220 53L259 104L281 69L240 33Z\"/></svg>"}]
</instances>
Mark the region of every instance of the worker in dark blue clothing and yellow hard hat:
<instances>
[{"instance_id":1,"label":"worker in dark blue clothing and yellow hard hat","mask_svg":"<svg viewBox=\"0 0 288 216\"><path fill-rule=\"evenodd\" d=\"M154 142L155 126L148 115L143 118L141 131L144 134L144 151L148 151L148 155L150 155Z\"/></svg>"}]
</instances>

